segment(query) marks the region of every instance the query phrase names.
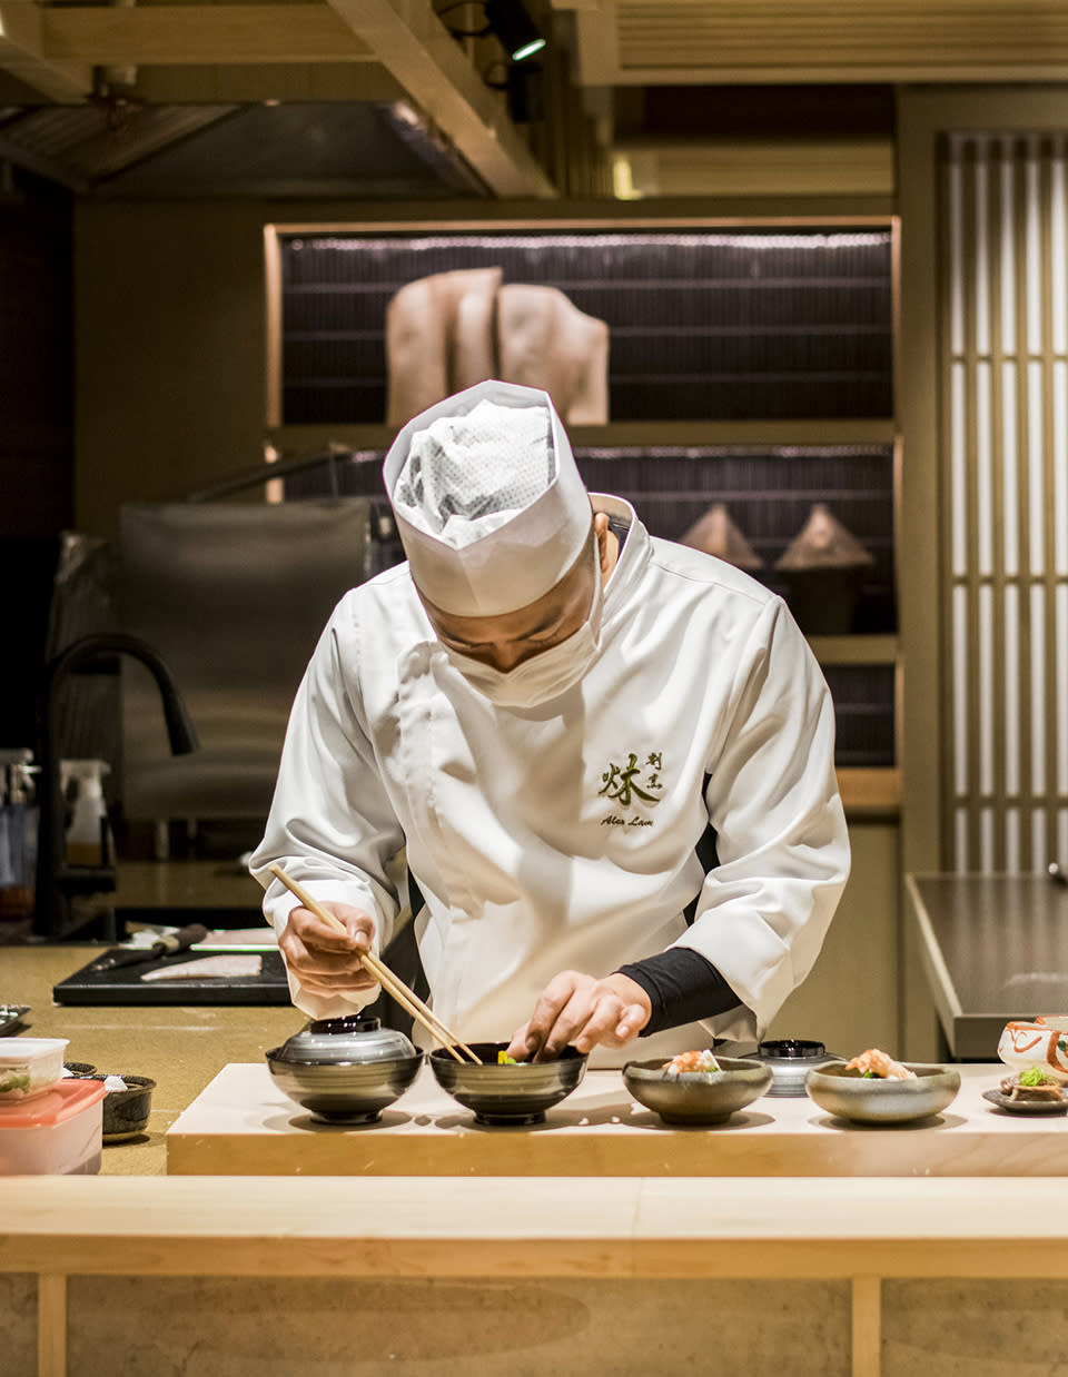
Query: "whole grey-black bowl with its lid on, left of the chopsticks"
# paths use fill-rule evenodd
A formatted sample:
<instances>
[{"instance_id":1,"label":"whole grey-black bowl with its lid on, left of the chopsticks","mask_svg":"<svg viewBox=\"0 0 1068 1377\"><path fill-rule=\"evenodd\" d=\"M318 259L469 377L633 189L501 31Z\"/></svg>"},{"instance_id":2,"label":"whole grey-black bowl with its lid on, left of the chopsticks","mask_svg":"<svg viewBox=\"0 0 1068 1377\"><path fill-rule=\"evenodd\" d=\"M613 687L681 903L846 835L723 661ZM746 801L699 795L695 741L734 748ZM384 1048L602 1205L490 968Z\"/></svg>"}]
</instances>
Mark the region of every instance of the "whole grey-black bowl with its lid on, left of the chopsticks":
<instances>
[{"instance_id":1,"label":"whole grey-black bowl with its lid on, left of the chopsticks","mask_svg":"<svg viewBox=\"0 0 1068 1377\"><path fill-rule=\"evenodd\" d=\"M423 1053L378 1019L318 1019L266 1053L280 1089L324 1124L375 1124L419 1074Z\"/></svg>"}]
</instances>

